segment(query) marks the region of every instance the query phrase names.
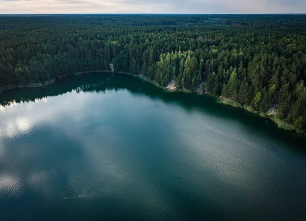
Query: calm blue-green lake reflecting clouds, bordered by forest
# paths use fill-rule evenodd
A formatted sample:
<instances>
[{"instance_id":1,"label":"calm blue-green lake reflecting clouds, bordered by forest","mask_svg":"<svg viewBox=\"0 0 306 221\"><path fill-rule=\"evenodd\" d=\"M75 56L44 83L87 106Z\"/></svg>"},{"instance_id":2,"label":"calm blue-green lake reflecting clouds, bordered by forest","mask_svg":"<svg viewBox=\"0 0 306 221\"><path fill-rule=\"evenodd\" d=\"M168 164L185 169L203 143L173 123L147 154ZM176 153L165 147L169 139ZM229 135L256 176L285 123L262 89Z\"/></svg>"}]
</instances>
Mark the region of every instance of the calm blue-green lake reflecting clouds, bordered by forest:
<instances>
[{"instance_id":1,"label":"calm blue-green lake reflecting clouds, bordered by forest","mask_svg":"<svg viewBox=\"0 0 306 221\"><path fill-rule=\"evenodd\" d=\"M306 220L305 137L213 97L93 73L0 104L1 221Z\"/></svg>"}]
</instances>

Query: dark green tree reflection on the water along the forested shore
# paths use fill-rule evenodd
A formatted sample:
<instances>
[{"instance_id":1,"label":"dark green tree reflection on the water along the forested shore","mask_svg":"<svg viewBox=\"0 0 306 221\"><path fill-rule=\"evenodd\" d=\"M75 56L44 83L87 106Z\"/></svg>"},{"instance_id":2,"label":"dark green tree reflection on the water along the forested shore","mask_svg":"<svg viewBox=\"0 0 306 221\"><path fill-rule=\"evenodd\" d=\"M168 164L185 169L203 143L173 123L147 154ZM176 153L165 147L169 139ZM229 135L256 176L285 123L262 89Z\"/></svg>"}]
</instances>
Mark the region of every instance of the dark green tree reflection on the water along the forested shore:
<instances>
[{"instance_id":1,"label":"dark green tree reflection on the water along the forested shore","mask_svg":"<svg viewBox=\"0 0 306 221\"><path fill-rule=\"evenodd\" d=\"M7 106L12 102L34 102L37 99L58 96L72 91L78 93L123 89L129 90L134 95L145 95L168 104L177 104L186 111L199 110L218 118L235 120L240 124L249 125L251 130L259 136L282 140L296 150L306 151L306 137L304 135L278 129L274 122L244 110L223 105L216 97L205 94L165 92L148 82L121 73L90 73L65 78L45 87L7 90L0 94L0 105Z\"/></svg>"}]
</instances>

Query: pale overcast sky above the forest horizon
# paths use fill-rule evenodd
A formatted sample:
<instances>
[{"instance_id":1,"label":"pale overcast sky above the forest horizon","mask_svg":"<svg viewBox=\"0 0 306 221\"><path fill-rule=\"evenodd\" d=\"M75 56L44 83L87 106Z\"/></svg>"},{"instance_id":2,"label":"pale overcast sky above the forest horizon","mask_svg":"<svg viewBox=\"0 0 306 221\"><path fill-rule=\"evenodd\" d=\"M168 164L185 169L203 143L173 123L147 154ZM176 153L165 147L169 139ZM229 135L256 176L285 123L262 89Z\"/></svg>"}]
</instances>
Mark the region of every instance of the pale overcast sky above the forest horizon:
<instances>
[{"instance_id":1,"label":"pale overcast sky above the forest horizon","mask_svg":"<svg viewBox=\"0 0 306 221\"><path fill-rule=\"evenodd\" d=\"M306 13L306 0L0 0L11 13Z\"/></svg>"}]
</instances>

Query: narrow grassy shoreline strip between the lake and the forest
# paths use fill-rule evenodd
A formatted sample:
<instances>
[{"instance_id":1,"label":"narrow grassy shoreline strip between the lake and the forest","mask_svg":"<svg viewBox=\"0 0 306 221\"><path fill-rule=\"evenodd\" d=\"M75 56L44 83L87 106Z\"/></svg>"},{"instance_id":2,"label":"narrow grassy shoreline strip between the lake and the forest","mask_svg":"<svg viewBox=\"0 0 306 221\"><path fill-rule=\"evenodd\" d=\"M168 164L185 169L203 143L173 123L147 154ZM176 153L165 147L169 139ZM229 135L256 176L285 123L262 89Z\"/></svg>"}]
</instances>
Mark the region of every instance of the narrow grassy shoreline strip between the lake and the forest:
<instances>
[{"instance_id":1,"label":"narrow grassy shoreline strip between the lake and the forest","mask_svg":"<svg viewBox=\"0 0 306 221\"><path fill-rule=\"evenodd\" d=\"M83 75L84 73L96 73L96 72L106 72L106 73L122 73L124 75L130 75L130 76L133 76L135 78L139 78L143 81L146 81L148 83L151 83L153 85L155 85L156 87L159 87L161 89L163 89L165 92L184 92L184 93L193 93L191 90L173 90L173 89L169 89L167 87L163 87L161 86L158 82L146 77L146 76L143 76L143 75L135 75L134 73L129 73L129 72L123 72L123 71L114 71L113 69L112 70L87 70L87 71L78 71L78 72L75 72L73 75L71 76L78 76L78 75ZM61 78L66 78L66 77L70 77L70 76L64 76L64 77L61 77ZM60 78L60 79L61 79ZM0 87L0 94L5 91L5 90L10 90L10 89L17 89L17 88L36 88L36 87L44 87L44 86L47 86L47 85L50 85L50 84L53 84L55 83L57 80L59 79L52 79L52 80L49 80L49 81L45 81L45 82L40 82L40 83L29 83L27 85L8 85L6 87L2 86ZM196 94L208 94L210 96L213 96L211 95L210 93L208 92L196 92ZM239 108L239 109L243 109L247 112L251 112L253 114L255 114L256 116L258 117L262 117L262 118L266 118L266 119L269 119L271 120L272 122L274 122L274 124L277 125L278 128L280 129L283 129L285 131L291 131L291 132L295 132L295 133L299 133L299 134L305 134L305 131L304 130L299 130L298 128L294 127L292 124L290 124L289 122L283 120L283 119L279 119L273 115L268 115L267 113L263 113L263 112L260 112L260 111L256 111L256 110L253 110L250 106L246 106L246 105L242 105L238 102L235 102L233 100L230 100L230 99L226 99L222 96L214 96L214 97L217 97L218 99L221 99L222 101L222 104L224 105L228 105L228 106L232 106L232 107L235 107L235 108Z\"/></svg>"}]
</instances>

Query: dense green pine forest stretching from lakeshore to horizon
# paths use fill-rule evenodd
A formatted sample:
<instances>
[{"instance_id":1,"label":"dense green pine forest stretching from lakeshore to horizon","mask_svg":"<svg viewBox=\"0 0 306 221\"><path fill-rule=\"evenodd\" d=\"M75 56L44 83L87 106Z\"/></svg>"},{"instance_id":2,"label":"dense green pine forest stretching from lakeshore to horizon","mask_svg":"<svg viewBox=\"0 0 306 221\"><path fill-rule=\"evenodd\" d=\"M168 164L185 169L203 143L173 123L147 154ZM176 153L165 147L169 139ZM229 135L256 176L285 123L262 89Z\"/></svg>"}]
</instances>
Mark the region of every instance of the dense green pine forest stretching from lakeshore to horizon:
<instances>
[{"instance_id":1,"label":"dense green pine forest stretching from lakeshore to horizon","mask_svg":"<svg viewBox=\"0 0 306 221\"><path fill-rule=\"evenodd\" d=\"M0 16L0 85L89 70L205 91L306 128L305 15Z\"/></svg>"}]
</instances>

